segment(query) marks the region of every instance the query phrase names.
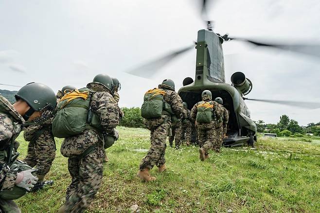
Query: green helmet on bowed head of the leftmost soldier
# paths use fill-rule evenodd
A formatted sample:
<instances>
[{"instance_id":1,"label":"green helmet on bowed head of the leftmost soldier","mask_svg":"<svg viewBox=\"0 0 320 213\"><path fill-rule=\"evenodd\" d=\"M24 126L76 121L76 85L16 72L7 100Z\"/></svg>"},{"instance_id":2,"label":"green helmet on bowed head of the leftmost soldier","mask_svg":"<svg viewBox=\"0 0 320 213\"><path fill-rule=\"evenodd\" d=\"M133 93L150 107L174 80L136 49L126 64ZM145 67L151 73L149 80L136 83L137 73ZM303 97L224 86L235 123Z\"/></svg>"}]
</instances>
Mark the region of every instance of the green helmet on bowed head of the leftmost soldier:
<instances>
[{"instance_id":1,"label":"green helmet on bowed head of the leftmost soldier","mask_svg":"<svg viewBox=\"0 0 320 213\"><path fill-rule=\"evenodd\" d=\"M53 90L44 84L35 82L19 89L15 97L17 101L21 99L30 106L30 109L23 116L26 121L35 111L53 111L57 104Z\"/></svg>"}]
</instances>

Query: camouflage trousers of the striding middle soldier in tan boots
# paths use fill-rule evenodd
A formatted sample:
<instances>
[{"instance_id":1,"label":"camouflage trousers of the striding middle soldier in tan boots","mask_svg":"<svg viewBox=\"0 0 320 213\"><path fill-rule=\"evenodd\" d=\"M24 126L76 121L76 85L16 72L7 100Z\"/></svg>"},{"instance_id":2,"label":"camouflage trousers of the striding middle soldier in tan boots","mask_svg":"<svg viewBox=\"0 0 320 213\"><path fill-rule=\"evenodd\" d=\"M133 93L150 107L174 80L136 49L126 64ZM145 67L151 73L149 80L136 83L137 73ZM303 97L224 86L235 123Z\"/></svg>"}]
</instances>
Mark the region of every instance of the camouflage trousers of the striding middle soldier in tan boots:
<instances>
[{"instance_id":1,"label":"camouflage trousers of the striding middle soldier in tan boots","mask_svg":"<svg viewBox=\"0 0 320 213\"><path fill-rule=\"evenodd\" d=\"M141 160L140 170L152 169L154 165L160 167L165 163L164 154L167 148L166 140L170 124L164 122L150 131L151 147L148 154Z\"/></svg>"}]
</instances>

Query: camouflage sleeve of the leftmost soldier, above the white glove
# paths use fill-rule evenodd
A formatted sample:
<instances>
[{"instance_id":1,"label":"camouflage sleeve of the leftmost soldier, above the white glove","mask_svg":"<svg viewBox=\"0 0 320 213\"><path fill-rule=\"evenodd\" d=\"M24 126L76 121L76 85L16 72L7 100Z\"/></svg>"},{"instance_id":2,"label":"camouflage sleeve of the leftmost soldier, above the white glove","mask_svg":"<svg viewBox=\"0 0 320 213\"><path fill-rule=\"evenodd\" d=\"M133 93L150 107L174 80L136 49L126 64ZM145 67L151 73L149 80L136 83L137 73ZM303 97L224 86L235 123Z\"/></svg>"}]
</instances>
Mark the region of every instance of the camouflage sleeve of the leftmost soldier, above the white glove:
<instances>
[{"instance_id":1,"label":"camouflage sleeve of the leftmost soldier, above the white glove","mask_svg":"<svg viewBox=\"0 0 320 213\"><path fill-rule=\"evenodd\" d=\"M14 127L9 118L0 115L0 146L4 145L13 136ZM0 160L0 191L11 190L16 183L18 171L10 170L5 166L5 162Z\"/></svg>"}]
</instances>

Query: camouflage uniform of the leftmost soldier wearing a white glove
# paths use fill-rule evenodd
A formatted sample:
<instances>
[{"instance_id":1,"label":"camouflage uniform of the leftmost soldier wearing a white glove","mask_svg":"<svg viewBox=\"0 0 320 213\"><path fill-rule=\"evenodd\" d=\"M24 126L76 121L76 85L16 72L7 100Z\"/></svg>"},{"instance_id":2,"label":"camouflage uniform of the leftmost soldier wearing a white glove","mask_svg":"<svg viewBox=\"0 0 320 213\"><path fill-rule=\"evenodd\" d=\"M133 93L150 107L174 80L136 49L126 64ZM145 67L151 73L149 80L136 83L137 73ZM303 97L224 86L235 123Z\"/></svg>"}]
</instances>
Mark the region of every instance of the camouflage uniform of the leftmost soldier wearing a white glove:
<instances>
[{"instance_id":1,"label":"camouflage uniform of the leftmost soldier wearing a white glove","mask_svg":"<svg viewBox=\"0 0 320 213\"><path fill-rule=\"evenodd\" d=\"M23 122L24 119L16 109L0 95L0 192L11 191L16 183L18 171L6 167L4 151L10 152L10 147L18 137ZM8 213L20 212L14 201L1 198L0 209Z\"/></svg>"}]
</instances>

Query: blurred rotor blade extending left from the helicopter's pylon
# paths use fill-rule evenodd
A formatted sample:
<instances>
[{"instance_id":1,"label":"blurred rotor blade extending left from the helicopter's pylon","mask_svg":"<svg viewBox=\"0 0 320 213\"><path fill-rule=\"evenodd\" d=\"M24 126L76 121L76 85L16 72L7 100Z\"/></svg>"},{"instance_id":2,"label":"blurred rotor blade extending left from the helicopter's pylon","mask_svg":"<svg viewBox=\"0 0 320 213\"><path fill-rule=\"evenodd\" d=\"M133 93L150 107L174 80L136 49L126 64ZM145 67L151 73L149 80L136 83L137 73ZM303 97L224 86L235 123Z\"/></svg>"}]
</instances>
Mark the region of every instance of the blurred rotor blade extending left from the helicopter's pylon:
<instances>
[{"instance_id":1,"label":"blurred rotor blade extending left from the helicopter's pylon","mask_svg":"<svg viewBox=\"0 0 320 213\"><path fill-rule=\"evenodd\" d=\"M195 45L180 49L178 51L174 51L168 54L165 54L164 56L154 59L152 61L149 61L147 63L142 64L141 66L131 70L126 71L129 74L140 76L143 78L151 78L154 74L156 74L157 71L159 71L162 67L167 65L170 61L172 61L174 58L176 58L178 55L181 55L182 53L187 52L188 50L191 50L195 47Z\"/></svg>"}]
</instances>

